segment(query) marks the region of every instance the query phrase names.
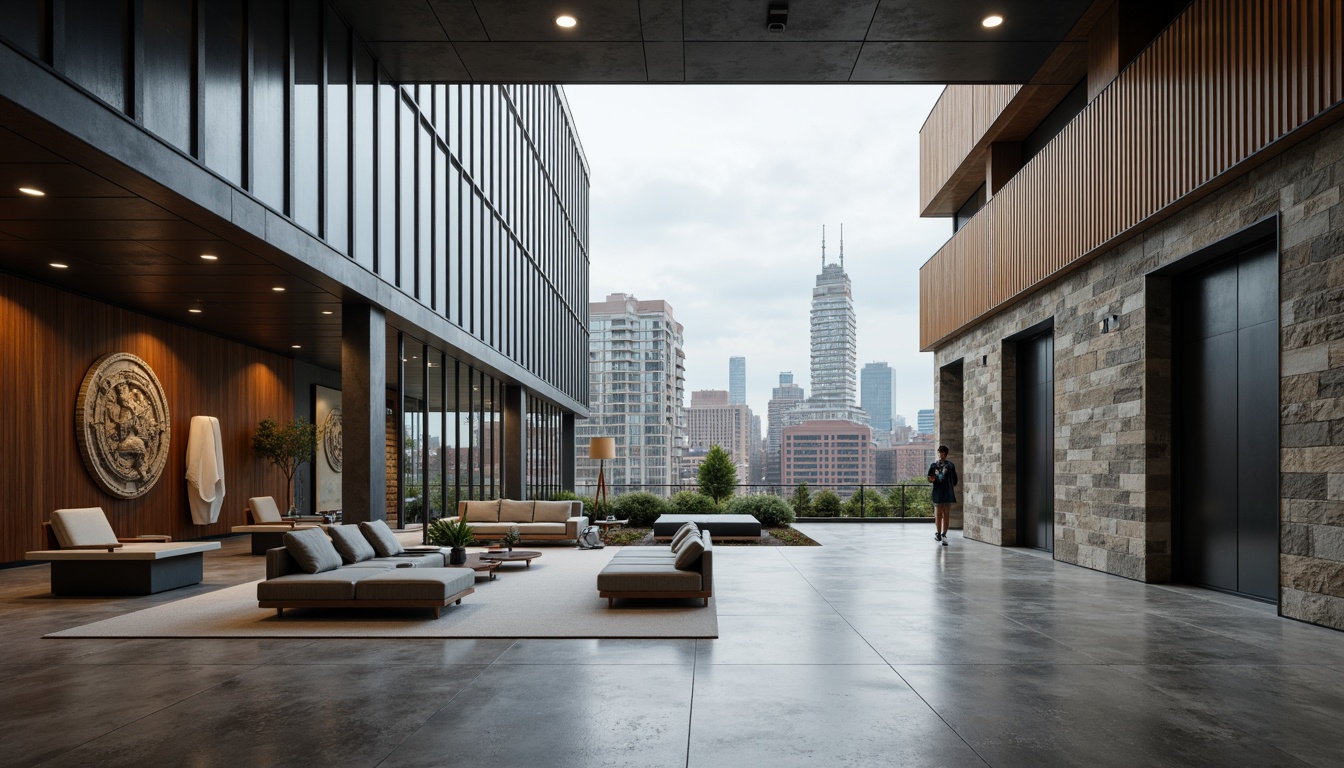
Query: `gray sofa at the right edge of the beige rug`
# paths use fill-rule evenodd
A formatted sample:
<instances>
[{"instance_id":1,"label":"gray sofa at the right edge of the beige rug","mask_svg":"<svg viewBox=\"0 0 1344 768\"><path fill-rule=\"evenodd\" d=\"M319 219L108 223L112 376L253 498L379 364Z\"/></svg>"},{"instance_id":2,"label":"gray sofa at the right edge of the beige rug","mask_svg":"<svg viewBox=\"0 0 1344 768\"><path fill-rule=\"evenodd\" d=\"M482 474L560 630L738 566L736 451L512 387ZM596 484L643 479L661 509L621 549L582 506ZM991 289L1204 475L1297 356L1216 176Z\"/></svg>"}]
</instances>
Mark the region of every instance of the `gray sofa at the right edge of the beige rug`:
<instances>
[{"instance_id":1,"label":"gray sofa at the right edge of the beige rug","mask_svg":"<svg viewBox=\"0 0 1344 768\"><path fill-rule=\"evenodd\" d=\"M598 596L606 607L617 597L699 597L710 604L714 596L714 543L710 531L698 531L704 551L677 568L677 550L652 546L624 547L597 574Z\"/></svg>"}]
</instances>

